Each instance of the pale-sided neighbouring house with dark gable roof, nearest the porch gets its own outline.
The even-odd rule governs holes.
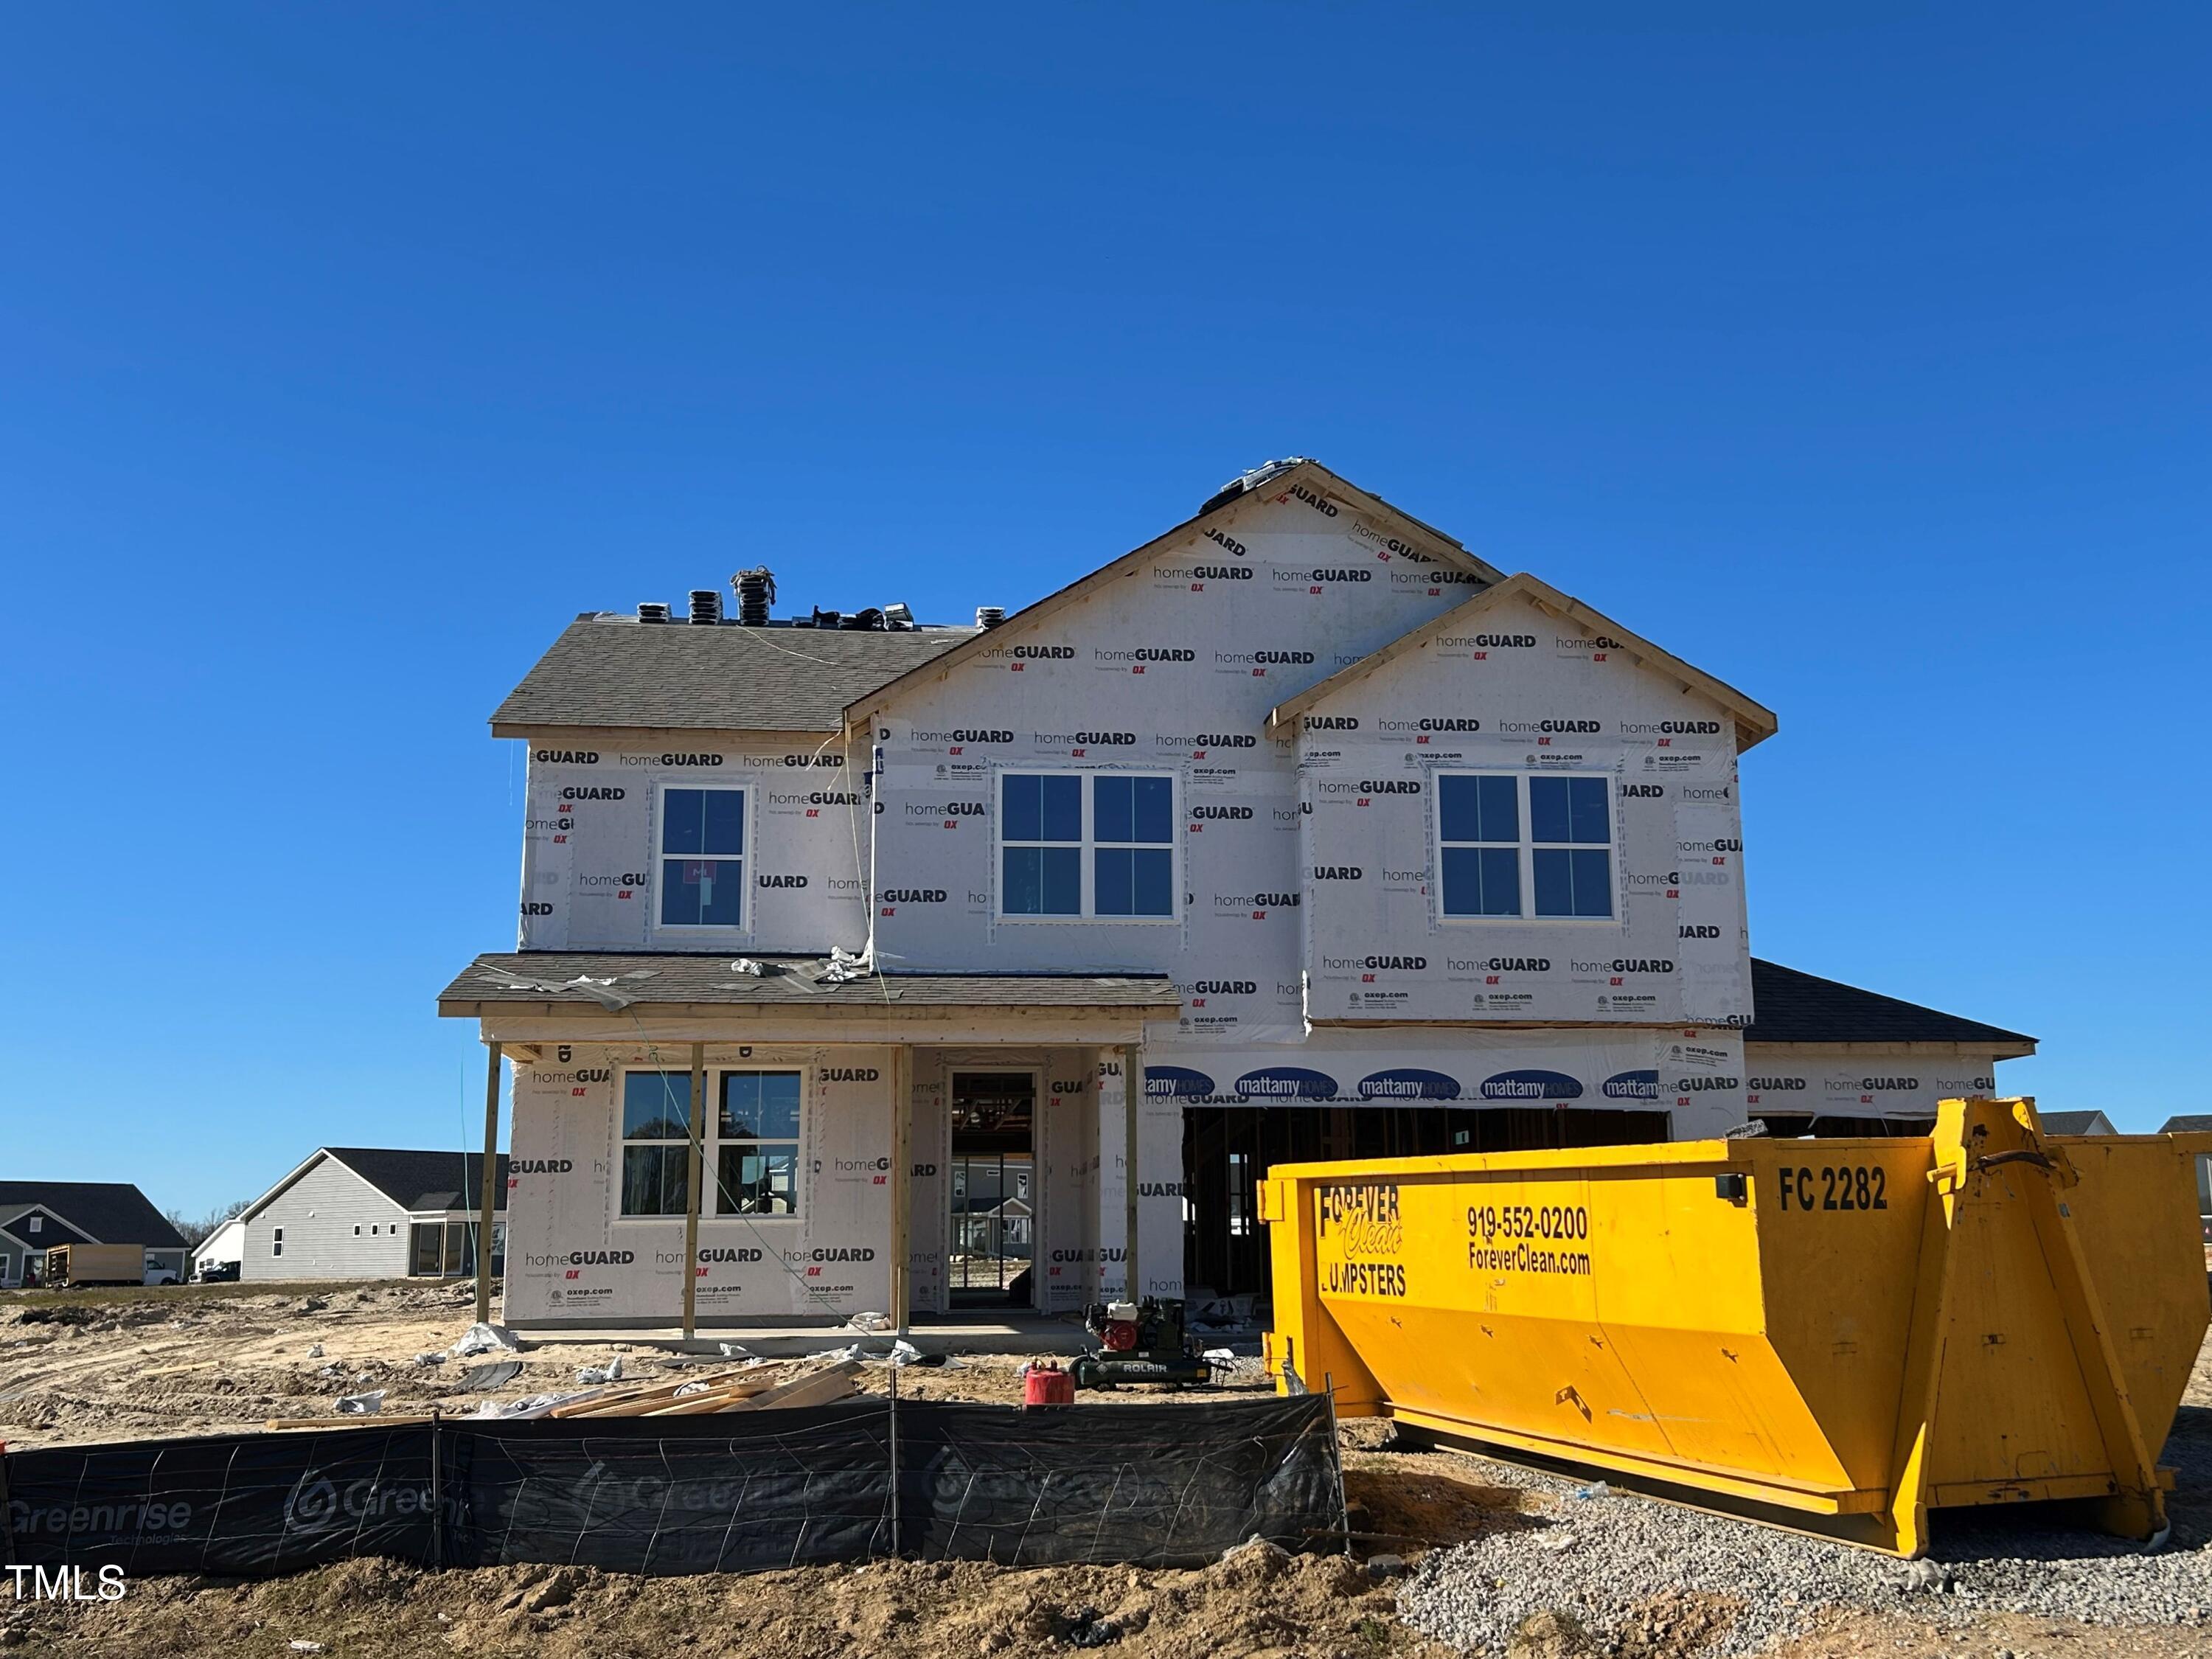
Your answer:
[[[226,1223],[226,1232],[239,1230],[239,1279],[440,1279],[476,1272],[482,1168],[480,1152],[321,1146]],[[500,1272],[507,1250],[504,1155],[493,1179],[500,1219],[491,1230],[491,1270]]]

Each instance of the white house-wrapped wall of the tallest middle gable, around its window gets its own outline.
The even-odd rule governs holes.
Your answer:
[[[874,726],[878,960],[1166,973],[1181,1040],[1298,1037],[1296,759],[1267,710],[1478,586],[1347,504],[1254,495],[900,688]],[[1172,916],[1009,916],[995,790],[1024,768],[1170,779]]]

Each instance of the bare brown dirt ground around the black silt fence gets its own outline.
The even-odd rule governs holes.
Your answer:
[[[385,1391],[385,1411],[577,1387],[577,1369],[619,1352],[624,1380],[677,1376],[641,1347],[557,1343],[526,1349],[522,1374],[478,1394],[460,1374],[484,1360],[416,1365],[445,1352],[471,1318],[467,1287],[434,1285],[195,1285],[148,1292],[0,1296],[0,1438],[11,1447],[135,1440],[259,1429],[272,1416],[316,1416],[341,1394]],[[741,1340],[734,1338],[734,1340]],[[823,1347],[883,1338],[825,1334]],[[310,1349],[321,1345],[321,1354]],[[945,1369],[905,1367],[902,1396],[1013,1402],[1020,1358],[964,1356]],[[688,1371],[695,1374],[695,1371]],[[867,1367],[885,1389],[889,1369]],[[1243,1387],[1259,1387],[1248,1383]],[[1166,1391],[1124,1389],[1117,1400]],[[2199,1356],[2190,1405],[2212,1411],[2212,1345]],[[2197,1413],[2190,1413],[2197,1420]],[[2212,1418],[2201,1420],[2212,1425]],[[139,1579],[113,1604],[15,1604],[0,1590],[0,1650],[71,1659],[241,1655],[330,1659],[507,1655],[529,1659],[666,1659],[677,1652],[772,1655],[1029,1655],[1073,1652],[1110,1632],[1133,1659],[1444,1659],[1398,1624],[1376,1553],[1475,1537],[1546,1500],[1500,1471],[1449,1451],[1387,1449],[1385,1425],[1347,1422],[1345,1495],[1360,1555],[1281,1557],[1245,1548],[1203,1571],[989,1568],[889,1562],[761,1575],[637,1579],[580,1568],[425,1573],[349,1562],[288,1579],[239,1584]],[[4,1584],[4,1579],[0,1579]],[[1725,1621],[1725,1606],[1659,1604],[1615,1648],[1619,1659],[1688,1659]],[[294,1644],[321,1644],[319,1648]],[[1542,1637],[1526,1659],[1582,1659]],[[1984,1619],[1936,1630],[1898,1617],[1834,1615],[1776,1648],[1785,1659],[2199,1659],[2203,1630],[2097,1628],[2046,1619]],[[1515,1655],[1515,1659],[1522,1659]]]

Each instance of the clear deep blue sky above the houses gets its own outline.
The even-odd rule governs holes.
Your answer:
[[[449,1146],[582,608],[1312,453],[1781,712],[1763,956],[2212,1108],[2203,7],[11,7],[9,1175]]]

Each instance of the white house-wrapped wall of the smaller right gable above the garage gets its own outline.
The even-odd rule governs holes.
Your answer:
[[[1506,785],[1513,834],[1537,834],[1522,779],[1601,785],[1601,823],[1575,825],[1604,849],[1601,916],[1447,909],[1440,787],[1475,776]],[[1310,706],[1298,785],[1310,1018],[1750,1020],[1732,717],[1615,641],[1484,608]]]

